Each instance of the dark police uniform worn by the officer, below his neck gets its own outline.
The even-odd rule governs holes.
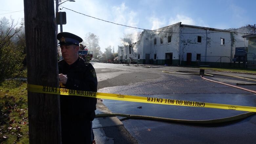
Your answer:
[[[65,89],[97,92],[97,77],[92,64],[80,57],[69,65],[58,62],[59,73],[67,75]],[[82,96],[60,96],[62,143],[90,144],[94,135],[92,120],[95,117],[96,98]]]

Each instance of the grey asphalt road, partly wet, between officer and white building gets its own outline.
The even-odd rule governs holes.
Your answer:
[[[208,103],[242,105],[256,107],[256,94],[222,84],[203,80],[200,76],[163,73],[168,71],[199,72],[197,68],[164,66],[126,66],[121,64],[93,63],[98,78],[98,92],[119,93],[139,96],[190,100]],[[177,72],[176,72],[177,73]],[[256,79],[256,75],[213,72],[244,76]],[[207,77],[212,80],[235,85],[235,83],[255,83],[246,79],[219,76]],[[241,86],[256,90],[256,86]],[[126,101],[103,100],[113,113],[158,116],[174,119],[208,120],[245,113],[210,108],[145,104]],[[137,107],[141,106],[141,109]],[[256,116],[221,124],[185,124],[150,120],[125,119],[124,124],[131,139],[138,143],[255,143]],[[127,133],[127,132],[125,132]],[[111,130],[106,135],[113,135]],[[129,135],[128,133],[126,135]],[[127,138],[127,137],[126,137]],[[129,138],[129,137],[128,137]],[[117,142],[116,142],[117,143]],[[129,142],[128,142],[129,143]],[[134,142],[135,143],[135,142]]]

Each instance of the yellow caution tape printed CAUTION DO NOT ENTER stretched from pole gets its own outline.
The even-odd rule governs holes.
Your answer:
[[[32,85],[32,84],[28,84],[28,91],[34,92],[34,93],[77,95],[77,96],[86,96],[86,97],[93,97],[93,98],[142,102],[142,103],[151,103],[151,104],[164,104],[164,105],[203,107],[203,108],[256,112],[256,107],[204,103],[204,102],[194,102],[194,101],[186,101],[186,100],[174,100],[174,99],[165,99],[165,98],[159,98],[159,97],[143,97],[143,96],[134,96],[134,95],[112,94],[112,93],[87,92],[87,91],[69,90],[69,89],[63,89],[63,88],[39,86],[39,85]]]

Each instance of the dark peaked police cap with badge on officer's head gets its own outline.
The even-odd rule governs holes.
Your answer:
[[[72,44],[79,46],[79,43],[83,41],[81,37],[69,32],[58,33],[57,39],[59,40],[59,44],[57,46],[72,45]]]

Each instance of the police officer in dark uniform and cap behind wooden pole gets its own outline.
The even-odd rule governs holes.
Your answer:
[[[77,56],[79,36],[60,32],[57,34],[63,60],[58,62],[61,87],[71,90],[97,92],[97,77],[93,66]],[[62,143],[91,144],[94,140],[92,121],[95,117],[96,98],[60,96]]]

